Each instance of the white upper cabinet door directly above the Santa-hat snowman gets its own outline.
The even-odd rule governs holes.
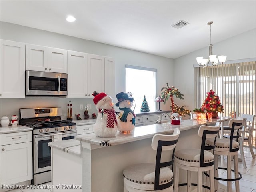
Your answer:
[[[105,92],[105,58],[103,56],[88,54],[87,92]]]

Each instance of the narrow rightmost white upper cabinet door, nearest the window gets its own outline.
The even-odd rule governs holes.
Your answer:
[[[114,98],[115,95],[115,60],[105,57],[105,93]]]

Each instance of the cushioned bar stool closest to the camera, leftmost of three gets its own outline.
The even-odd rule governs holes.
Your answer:
[[[174,129],[172,135],[155,134],[151,147],[156,150],[155,163],[141,163],[129,166],[123,171],[124,192],[159,191],[173,192],[173,166],[174,151],[180,130]],[[161,162],[162,151],[170,150],[171,160]],[[173,167],[172,167],[173,168]]]

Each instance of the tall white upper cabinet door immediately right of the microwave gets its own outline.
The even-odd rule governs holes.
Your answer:
[[[87,97],[87,55],[68,51],[68,97]]]

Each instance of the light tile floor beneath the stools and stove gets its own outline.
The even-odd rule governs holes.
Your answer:
[[[256,152],[255,149],[254,149],[254,152]],[[256,158],[255,159],[252,158],[252,156],[250,154],[250,150],[247,147],[244,147],[244,156],[245,156],[247,168],[245,169],[243,167],[242,162],[239,162],[239,164],[238,164],[239,172],[242,174],[242,179],[239,180],[240,192],[256,192]],[[219,160],[219,166],[220,166],[221,165],[220,158],[218,160]],[[224,158],[223,167],[226,166],[225,162],[226,162],[226,159]],[[233,169],[234,169],[234,166],[233,166]],[[220,170],[219,176],[222,178],[225,178],[226,170]],[[42,185],[51,185],[51,182],[45,183]],[[50,191],[52,191],[50,189],[45,189],[45,188],[42,189],[42,185],[39,185],[37,187],[31,186],[30,188],[27,188],[27,189],[14,189],[14,190],[10,190],[8,192],[50,192]],[[41,187],[41,189],[40,189],[40,187]],[[183,189],[184,189],[183,187],[180,187],[179,191],[185,192]],[[206,190],[206,191],[208,191],[208,190]],[[72,192],[72,191],[70,191],[70,192]],[[224,182],[224,181],[219,182],[218,192],[227,192],[226,182]],[[232,192],[236,192],[235,182],[232,182]]]

